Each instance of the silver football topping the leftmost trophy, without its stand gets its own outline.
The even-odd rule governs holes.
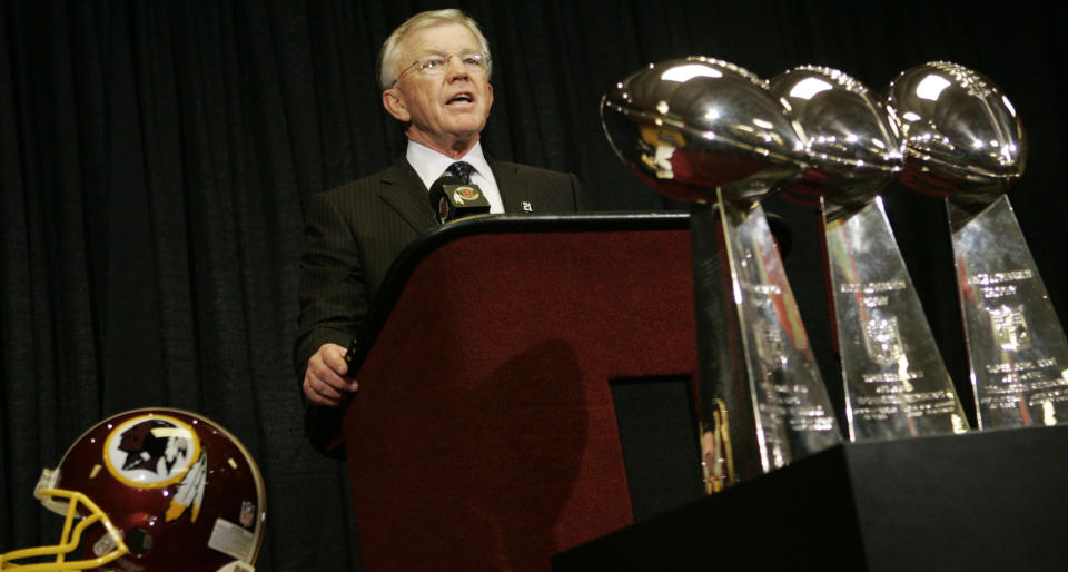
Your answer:
[[[749,71],[690,57],[650,65],[601,101],[609,141],[653,189],[676,200],[759,200],[805,167],[804,140]]]

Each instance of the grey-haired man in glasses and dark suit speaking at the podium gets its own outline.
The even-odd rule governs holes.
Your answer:
[[[316,195],[300,258],[300,329],[294,357],[310,403],[337,406],[357,383],[346,345],[397,254],[435,225],[429,186],[446,172],[469,177],[491,213],[577,209],[581,187],[564,175],[487,158],[479,134],[493,105],[485,37],[459,10],[412,17],[378,58],[382,103],[408,146],[388,169]]]

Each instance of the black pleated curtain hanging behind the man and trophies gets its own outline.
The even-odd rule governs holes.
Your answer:
[[[643,187],[601,131],[601,95],[686,55],[771,77],[815,63],[881,90],[933,59],[1000,85],[1030,137],[1010,194],[1054,305],[1068,147],[1062,6],[894,1],[545,1],[459,8],[494,49],[484,134],[503,159],[573,171],[600,210],[680,208]],[[100,418],[200,412],[258,460],[260,570],[358,568],[344,466],[306,446],[290,367],[304,205],[390,162],[402,136],[373,66],[422,1],[3,1],[0,8],[0,551],[51,543],[42,467]],[[888,214],[969,402],[943,206],[900,185]],[[831,352],[814,214],[788,259],[824,377]],[[640,269],[655,279],[654,269]],[[832,385],[833,387],[833,385]],[[832,391],[838,394],[839,391]],[[417,456],[413,452],[413,456]],[[433,475],[428,475],[433,476]]]

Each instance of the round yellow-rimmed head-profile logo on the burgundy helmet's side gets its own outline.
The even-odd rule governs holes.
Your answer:
[[[184,481],[200,461],[200,440],[182,421],[146,414],[116,426],[105,442],[103,456],[108,471],[119,481],[159,489]]]

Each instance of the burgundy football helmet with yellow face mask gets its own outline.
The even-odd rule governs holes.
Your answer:
[[[60,541],[0,554],[2,570],[249,572],[267,514],[248,450],[171,408],[98,423],[41,473],[33,496],[66,517]]]

